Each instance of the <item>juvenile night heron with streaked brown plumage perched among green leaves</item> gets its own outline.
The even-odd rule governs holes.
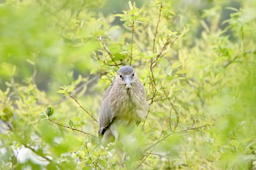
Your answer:
[[[122,66],[108,87],[99,109],[99,137],[102,146],[117,141],[120,131],[140,123],[146,117],[146,91],[132,66]],[[129,133],[126,133],[129,134]]]

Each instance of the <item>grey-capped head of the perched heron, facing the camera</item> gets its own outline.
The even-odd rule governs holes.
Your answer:
[[[132,88],[132,80],[135,78],[135,69],[132,66],[122,66],[117,71],[117,79],[124,82],[125,88]]]

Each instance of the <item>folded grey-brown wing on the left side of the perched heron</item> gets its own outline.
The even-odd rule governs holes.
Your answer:
[[[108,87],[99,109],[99,135],[104,134],[110,123],[113,121],[113,116],[111,114],[110,92],[113,88],[114,81],[115,80],[113,80]]]

